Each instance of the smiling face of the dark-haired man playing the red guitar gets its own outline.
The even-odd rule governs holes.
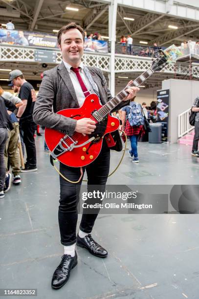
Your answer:
[[[84,41],[81,32],[76,29],[70,29],[61,35],[61,44],[58,44],[63,60],[68,64],[80,64],[84,54]]]

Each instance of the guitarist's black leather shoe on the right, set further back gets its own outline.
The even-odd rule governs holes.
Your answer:
[[[93,256],[106,257],[108,255],[106,249],[95,242],[90,234],[86,235],[84,238],[80,238],[79,235],[77,235],[76,244],[77,246],[88,249],[89,253]]]

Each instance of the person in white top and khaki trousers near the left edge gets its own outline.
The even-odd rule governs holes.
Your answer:
[[[4,91],[0,87],[0,95],[12,102],[17,108],[22,106],[22,100],[19,97],[14,96],[12,93]],[[11,113],[9,115],[10,121],[13,126],[13,130],[8,132],[8,139],[6,141],[5,145],[5,151],[4,151],[4,160],[5,160],[5,169],[6,173],[8,172],[8,158],[9,163],[12,167],[13,172],[13,184],[18,185],[21,183],[21,177],[20,177],[20,171],[21,171],[21,160],[20,160],[20,153],[18,149],[18,134],[19,134],[19,121],[16,118],[16,115],[14,113]],[[10,184],[7,184],[5,182],[4,192],[7,192],[9,190]]]

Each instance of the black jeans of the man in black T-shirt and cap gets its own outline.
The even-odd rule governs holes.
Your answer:
[[[23,121],[20,122],[20,126],[23,131],[23,142],[25,144],[27,159],[26,164],[31,167],[36,167],[36,147],[35,147],[35,130],[37,129],[37,125],[33,121]]]

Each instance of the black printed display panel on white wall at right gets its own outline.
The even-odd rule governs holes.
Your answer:
[[[168,141],[169,89],[157,90],[157,122],[162,123],[162,141]]]

